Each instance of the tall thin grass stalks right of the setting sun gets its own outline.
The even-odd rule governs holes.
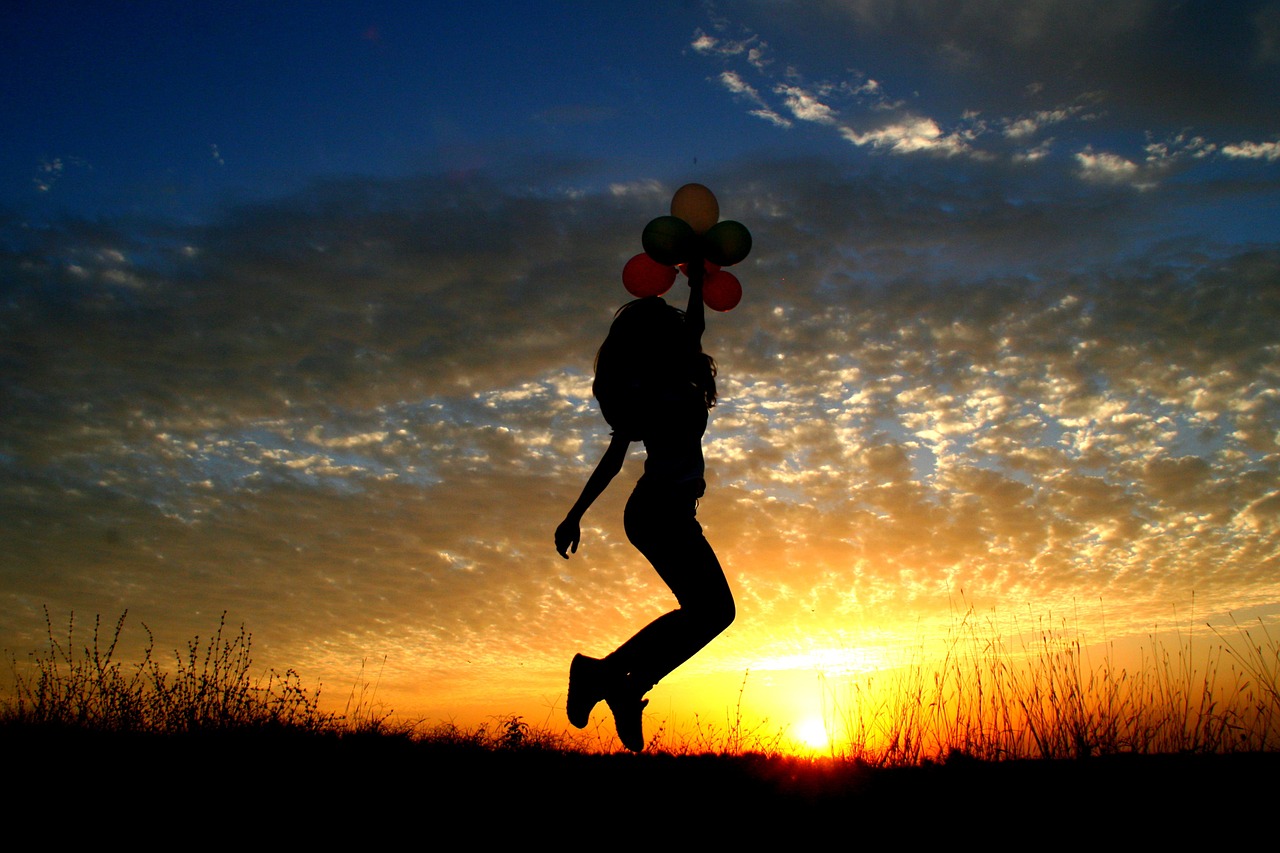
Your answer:
[[[963,753],[1083,758],[1280,748],[1280,644],[1261,621],[1215,642],[1152,634],[1133,669],[1105,644],[1094,662],[1078,631],[1041,622],[1005,638],[973,610],[936,657],[828,686],[833,753],[876,766]]]

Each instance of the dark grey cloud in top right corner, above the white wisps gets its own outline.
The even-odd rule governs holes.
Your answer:
[[[1044,0],[1016,9],[996,0],[833,1],[818,4],[823,20],[806,26],[823,33],[809,40],[814,54],[845,40],[854,55],[886,67],[914,63],[952,76],[963,83],[952,91],[973,99],[957,106],[969,109],[1010,114],[1021,90],[1036,85],[1061,102],[1101,92],[1120,122],[1274,128],[1280,111],[1262,101],[1280,67],[1262,58],[1274,44],[1275,9],[1263,1],[1229,9],[1148,0]],[[792,36],[783,17],[767,19]]]

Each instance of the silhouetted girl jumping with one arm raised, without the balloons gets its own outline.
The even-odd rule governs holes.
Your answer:
[[[660,297],[628,302],[595,356],[591,391],[613,428],[608,450],[577,503],[556,528],[556,551],[577,551],[581,519],[622,469],[631,442],[644,442],[644,475],[623,515],[627,539],[680,602],[612,654],[576,654],[570,665],[568,720],[586,726],[604,699],[627,749],[644,749],[644,694],[733,621],[733,597],[695,510],[703,479],[701,438],[716,405],[716,361],[701,348],[701,275],[690,277],[689,310]]]

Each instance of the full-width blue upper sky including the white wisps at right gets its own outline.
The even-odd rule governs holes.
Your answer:
[[[1085,174],[1130,182],[1207,149],[1208,179],[1274,161],[1274,18],[1258,3],[19,4],[4,197],[207,216],[334,175],[602,182],[850,146],[1087,152]]]

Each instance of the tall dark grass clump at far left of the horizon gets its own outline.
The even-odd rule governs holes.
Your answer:
[[[4,708],[9,724],[64,726],[91,731],[178,734],[219,730],[328,731],[343,717],[320,711],[320,692],[302,685],[293,670],[252,674],[252,638],[227,629],[223,613],[207,642],[191,639],[172,666],[155,654],[147,633],[142,660],[116,660],[124,629],[95,617],[92,638],[76,637],[74,615],[65,639],[55,635],[45,610],[47,646],[26,661],[12,660],[14,690]],[[361,717],[362,720],[364,717]]]

